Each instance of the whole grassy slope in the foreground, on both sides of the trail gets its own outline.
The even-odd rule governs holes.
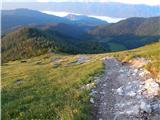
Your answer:
[[[103,70],[100,61],[105,56],[114,56],[128,61],[140,56],[151,60],[146,67],[155,75],[160,71],[160,42],[130,51],[110,54],[88,55],[93,61],[65,66],[77,56],[46,55],[28,59],[27,63],[9,62],[2,66],[2,118],[17,119],[90,119],[89,91],[82,91],[84,84],[91,82],[95,73]],[[62,58],[59,67],[53,68],[52,58]],[[36,64],[39,61],[41,65]],[[57,64],[55,65],[57,66]],[[16,80],[22,83],[17,84]]]

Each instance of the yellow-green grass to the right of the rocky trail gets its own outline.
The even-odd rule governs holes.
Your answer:
[[[153,75],[160,77],[160,41],[134,50],[111,53],[120,60],[128,61],[135,57],[144,57],[151,62],[145,67]]]

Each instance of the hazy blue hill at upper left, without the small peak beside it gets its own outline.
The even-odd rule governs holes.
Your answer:
[[[18,26],[52,22],[69,23],[70,21],[65,18],[29,9],[2,10],[2,33],[10,31]]]

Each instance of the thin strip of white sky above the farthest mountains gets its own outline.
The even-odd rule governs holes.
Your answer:
[[[120,2],[128,4],[160,5],[160,0],[2,0],[3,2]]]

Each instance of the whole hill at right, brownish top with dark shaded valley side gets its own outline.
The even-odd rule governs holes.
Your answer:
[[[160,38],[160,17],[128,18],[117,23],[97,26],[88,33],[97,41],[105,44],[116,44],[126,49],[133,49]]]

